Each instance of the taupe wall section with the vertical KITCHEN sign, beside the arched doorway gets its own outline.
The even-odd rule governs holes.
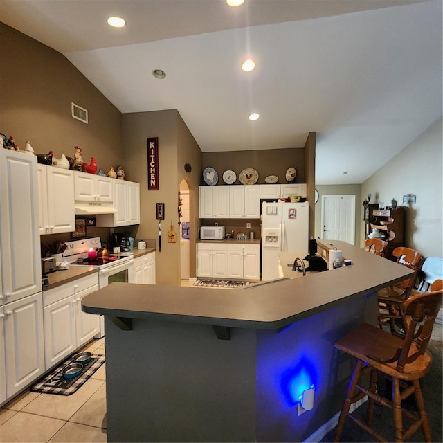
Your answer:
[[[149,137],[159,138],[159,190],[147,189],[146,139]],[[158,238],[156,204],[164,203],[165,219],[161,221],[160,252],[157,245],[156,278],[158,284],[179,284],[180,242],[168,243],[168,230],[172,221],[179,239],[179,185],[181,179],[186,179],[190,190],[198,189],[201,152],[176,109],[123,114],[123,139],[125,164],[132,170],[134,181],[140,183],[141,221],[136,239]],[[184,163],[192,165],[190,174],[184,170]],[[195,232],[192,235],[195,246]]]

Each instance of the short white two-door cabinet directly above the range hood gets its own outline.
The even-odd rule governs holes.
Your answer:
[[[112,201],[112,183],[115,179],[87,172],[74,172],[76,201]]]

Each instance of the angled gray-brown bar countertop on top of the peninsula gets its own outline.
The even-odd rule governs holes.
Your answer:
[[[352,266],[230,290],[113,283],[85,296],[82,309],[123,318],[275,329],[412,275],[404,266],[345,242],[323,244],[334,246]]]

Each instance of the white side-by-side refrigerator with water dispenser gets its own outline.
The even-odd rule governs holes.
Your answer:
[[[280,251],[308,253],[309,204],[262,204],[262,281],[279,278]]]

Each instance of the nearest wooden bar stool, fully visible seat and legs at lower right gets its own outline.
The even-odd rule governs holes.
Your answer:
[[[424,409],[424,399],[419,380],[431,367],[432,356],[426,350],[435,318],[442,307],[443,281],[437,280],[431,292],[417,293],[404,302],[404,314],[408,318],[406,336],[400,338],[378,327],[361,324],[334,343],[336,349],[354,356],[357,361],[352,374],[343,409],[336,427],[334,442],[339,442],[347,417],[381,442],[403,442],[420,427],[426,442],[431,442],[431,428]],[[422,323],[423,322],[423,323]],[[361,383],[361,376],[369,372],[368,387]],[[377,392],[377,377],[381,374],[392,381],[392,401]],[[357,393],[356,393],[357,390]],[[401,401],[414,394],[418,417],[402,409]],[[366,419],[350,414],[352,403],[368,395]],[[374,404],[387,406],[394,415],[395,440],[383,437],[372,427]],[[404,431],[403,416],[413,420]]]

